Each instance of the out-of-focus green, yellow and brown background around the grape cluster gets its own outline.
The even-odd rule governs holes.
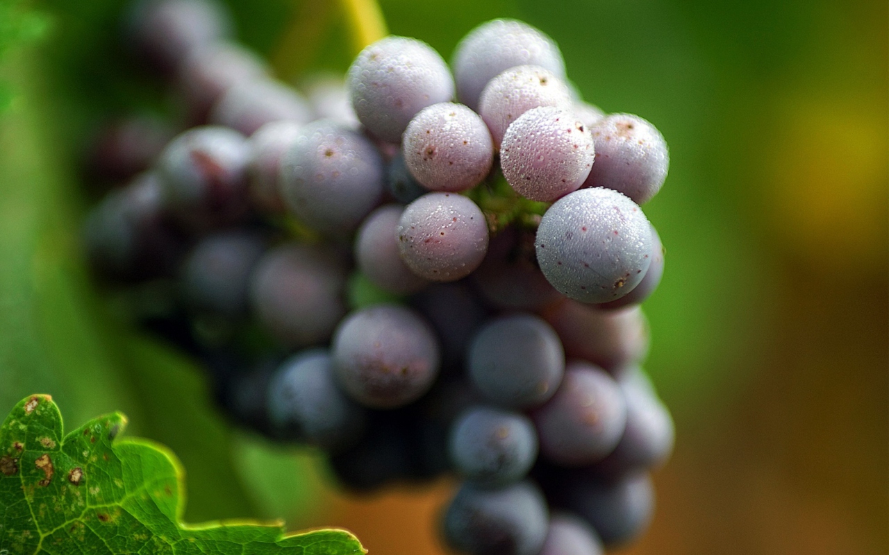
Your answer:
[[[354,54],[337,10],[306,24],[317,0],[228,4],[270,58],[290,29],[293,75],[342,72]],[[84,138],[161,90],[121,48],[123,5],[0,4],[0,413],[33,392],[52,393],[72,427],[124,410],[131,434],[182,459],[189,521],[283,516],[348,527],[372,554],[443,552],[436,516],[452,484],[336,492],[315,454],[231,430],[194,364],[122,325],[92,285],[78,242]],[[525,20],[557,41],[585,99],[645,117],[669,143],[669,178],[645,207],[668,251],[645,303],[645,368],[677,448],[656,475],[651,530],[621,552],[889,551],[887,4],[380,6],[392,33],[445,59],[484,20]]]

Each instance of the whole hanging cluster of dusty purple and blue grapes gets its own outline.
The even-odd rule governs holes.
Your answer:
[[[451,67],[387,36],[301,93],[208,0],[128,21],[180,127],[136,115],[96,143],[93,175],[124,184],[88,254],[204,358],[228,415],[324,450],[354,490],[460,476],[442,533],[470,555],[639,535],[674,433],[639,367],[661,134],[583,102],[516,20],[471,30]]]

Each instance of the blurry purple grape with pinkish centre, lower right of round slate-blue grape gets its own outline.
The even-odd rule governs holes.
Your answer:
[[[571,362],[562,385],[533,415],[541,452],[557,464],[578,466],[605,458],[621,440],[627,405],[605,371]]]

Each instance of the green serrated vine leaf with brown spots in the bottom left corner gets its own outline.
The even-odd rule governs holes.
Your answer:
[[[125,427],[118,412],[63,436],[49,395],[21,400],[0,427],[0,552],[364,554],[344,530],[285,535],[281,524],[183,525],[179,462],[154,442],[116,440]]]

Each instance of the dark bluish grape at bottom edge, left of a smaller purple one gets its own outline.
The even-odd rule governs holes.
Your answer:
[[[531,482],[502,489],[468,483],[445,513],[445,542],[469,555],[537,555],[548,525],[547,503]]]

